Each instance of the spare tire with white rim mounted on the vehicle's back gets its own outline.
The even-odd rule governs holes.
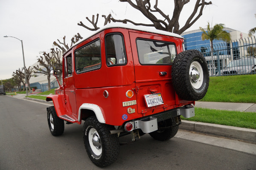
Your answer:
[[[180,99],[194,101],[205,96],[209,86],[209,71],[200,51],[187,50],[175,57],[172,85]]]

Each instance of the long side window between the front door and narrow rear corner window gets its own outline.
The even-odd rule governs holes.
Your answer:
[[[76,73],[101,68],[100,40],[90,42],[75,51]]]

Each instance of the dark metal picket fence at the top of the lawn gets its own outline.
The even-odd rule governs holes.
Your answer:
[[[210,76],[256,73],[256,37],[218,43],[197,49],[204,54]]]

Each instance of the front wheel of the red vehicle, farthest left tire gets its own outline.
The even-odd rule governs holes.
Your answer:
[[[51,124],[52,118],[52,124]],[[50,106],[47,111],[47,121],[49,125],[50,132],[53,136],[59,136],[64,132],[64,120],[57,116],[54,106]]]

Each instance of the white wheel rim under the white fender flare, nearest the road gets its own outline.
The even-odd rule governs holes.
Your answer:
[[[91,128],[89,130],[88,140],[93,153],[99,156],[102,153],[102,144],[96,129]]]

